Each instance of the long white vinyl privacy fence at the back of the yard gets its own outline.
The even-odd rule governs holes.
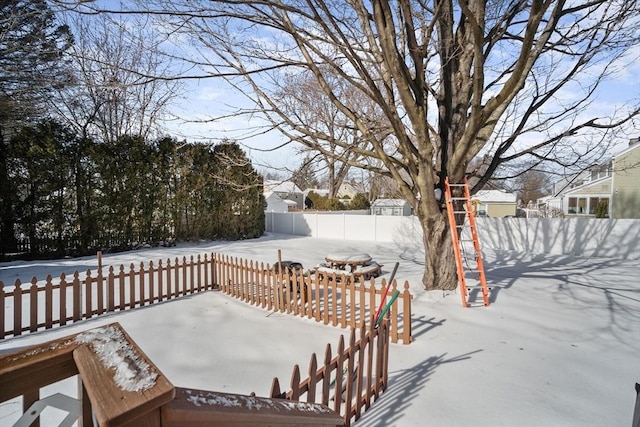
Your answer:
[[[640,260],[637,219],[477,218],[477,223],[487,249]],[[422,248],[415,216],[267,212],[266,231]]]

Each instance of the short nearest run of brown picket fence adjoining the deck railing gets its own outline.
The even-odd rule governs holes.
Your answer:
[[[280,381],[274,378],[272,398],[285,398],[329,406],[344,419],[345,426],[357,421],[374,400],[387,388],[389,378],[389,323],[379,327],[374,322],[359,329],[351,329],[349,347],[344,347],[340,336],[336,355],[327,344],[324,363],[318,368],[315,353],[309,361],[309,376],[300,379],[300,367],[295,365],[291,374],[291,389],[280,392]]]

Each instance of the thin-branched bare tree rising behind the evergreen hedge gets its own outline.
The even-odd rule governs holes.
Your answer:
[[[84,137],[100,141],[161,133],[168,106],[183,84],[163,79],[172,62],[160,55],[163,38],[145,22],[148,19],[72,13],[64,17],[74,33],[68,52],[74,84],[52,98],[52,108]],[[158,78],[142,77],[149,73]]]

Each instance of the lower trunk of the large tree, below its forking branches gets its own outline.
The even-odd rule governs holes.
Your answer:
[[[424,288],[454,290],[458,286],[458,276],[446,212],[420,216],[420,225],[425,250]]]

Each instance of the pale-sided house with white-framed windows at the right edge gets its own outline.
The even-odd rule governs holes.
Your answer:
[[[554,196],[539,205],[565,217],[640,218],[640,139],[610,161],[554,186]]]

